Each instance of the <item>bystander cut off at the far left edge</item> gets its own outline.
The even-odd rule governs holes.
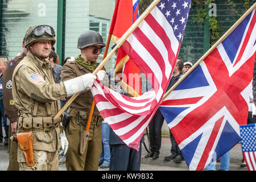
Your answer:
[[[3,143],[5,145],[8,145],[8,143],[9,143],[9,139],[8,139],[9,125],[7,125],[7,118],[5,116],[5,109],[3,107],[3,84],[2,84],[2,81],[3,81],[3,72],[5,71],[7,64],[8,64],[8,60],[6,59],[6,57],[1,57],[0,58],[0,72],[1,72],[1,75],[0,75],[0,112],[1,112],[1,115],[0,115],[0,119],[1,119],[0,142],[1,143],[3,142],[3,133],[2,133],[2,126],[3,126],[5,128],[5,137],[4,137],[5,141]]]

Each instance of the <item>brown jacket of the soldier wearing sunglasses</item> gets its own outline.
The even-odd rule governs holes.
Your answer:
[[[92,73],[82,65],[78,64],[76,61],[69,61],[63,65],[61,70],[61,81],[66,81],[71,78],[82,76],[86,73]],[[85,90],[81,92],[79,96],[72,102],[70,107],[76,111],[90,112],[90,107],[92,106],[93,96],[90,90]],[[93,115],[98,115],[99,111],[97,107],[94,107]]]

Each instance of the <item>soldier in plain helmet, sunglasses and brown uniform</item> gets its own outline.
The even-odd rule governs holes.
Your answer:
[[[75,61],[70,61],[63,65],[61,81],[69,80],[85,73],[92,73],[98,66],[96,61],[103,47],[105,47],[105,44],[98,32],[85,31],[82,33],[77,42],[77,48],[81,50],[81,55],[77,56]],[[97,76],[101,81],[108,80],[105,71],[98,72]],[[91,92],[82,92],[68,108],[68,114],[72,116],[65,128],[69,142],[66,159],[68,170],[98,170],[98,160],[102,146],[100,126],[103,118],[96,107],[93,111],[89,133],[85,131],[92,101]]]

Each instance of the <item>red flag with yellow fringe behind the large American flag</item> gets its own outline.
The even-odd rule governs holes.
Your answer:
[[[130,28],[138,15],[138,0],[117,0],[110,26],[109,34],[112,41],[119,38]],[[129,56],[120,47],[117,53],[114,78],[121,81],[123,90],[133,97],[142,94],[141,70],[133,63]]]

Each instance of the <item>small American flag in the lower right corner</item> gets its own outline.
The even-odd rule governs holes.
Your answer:
[[[256,124],[241,125],[240,136],[243,159],[249,171],[256,171]]]

